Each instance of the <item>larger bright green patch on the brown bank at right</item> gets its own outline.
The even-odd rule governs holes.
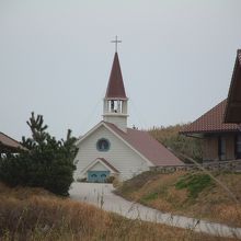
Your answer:
[[[176,183],[175,188],[188,191],[188,197],[195,199],[205,188],[214,185],[214,181],[207,174],[194,173],[182,176]]]

